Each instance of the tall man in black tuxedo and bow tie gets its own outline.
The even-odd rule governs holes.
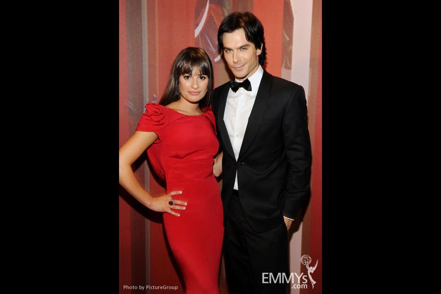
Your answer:
[[[218,43],[235,76],[212,96],[223,151],[228,291],[286,293],[289,283],[274,280],[279,273],[290,276],[288,230],[294,218],[302,219],[310,197],[305,92],[262,68],[264,29],[252,13],[229,14]]]

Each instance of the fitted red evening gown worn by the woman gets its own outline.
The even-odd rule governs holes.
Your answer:
[[[189,294],[217,294],[223,238],[223,213],[213,162],[219,142],[211,108],[188,116],[157,103],[147,103],[138,131],[155,132],[147,149],[154,171],[173,199],[187,201],[180,217],[164,213],[164,227]]]

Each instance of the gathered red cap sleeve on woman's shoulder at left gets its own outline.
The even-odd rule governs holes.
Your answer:
[[[146,111],[141,116],[136,130],[155,132],[158,136],[158,140],[156,140],[155,143],[159,143],[162,137],[162,131],[167,123],[168,116],[164,112],[163,106],[157,103],[147,103]]]

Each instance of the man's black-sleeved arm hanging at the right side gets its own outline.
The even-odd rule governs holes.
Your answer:
[[[282,213],[288,227],[292,221],[286,218],[303,218],[310,197],[311,141],[305,91],[301,86],[294,88],[288,100],[282,131],[289,164]]]

